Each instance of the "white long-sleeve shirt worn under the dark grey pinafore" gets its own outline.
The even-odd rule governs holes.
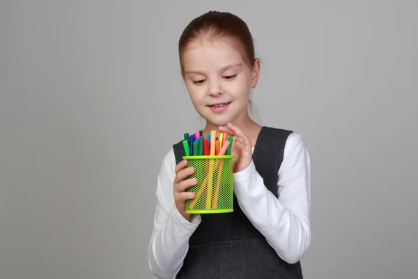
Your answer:
[[[253,149],[254,151],[254,149]],[[171,149],[157,178],[157,206],[148,246],[148,264],[158,278],[175,278],[189,249],[189,237],[201,223],[200,215],[189,221],[178,212],[173,197],[176,159]],[[263,183],[254,162],[233,174],[238,204],[277,255],[293,264],[311,243],[310,158],[300,135],[289,135],[279,168],[276,198]]]

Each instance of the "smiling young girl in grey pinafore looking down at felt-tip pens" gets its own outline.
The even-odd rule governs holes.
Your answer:
[[[196,111],[211,130],[235,137],[234,212],[190,215],[197,183],[173,145],[157,179],[148,249],[158,278],[302,278],[311,243],[310,161],[300,135],[260,126],[248,114],[260,61],[247,24],[231,13],[192,20],[179,41],[180,68]],[[277,94],[277,92],[273,92]]]

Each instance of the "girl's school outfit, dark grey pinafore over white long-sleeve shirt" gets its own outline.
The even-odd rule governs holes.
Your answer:
[[[310,158],[300,135],[263,126],[253,161],[233,174],[232,213],[180,215],[173,198],[182,142],[165,156],[148,250],[159,278],[302,279],[311,243]]]

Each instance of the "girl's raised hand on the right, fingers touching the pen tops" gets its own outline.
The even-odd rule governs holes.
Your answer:
[[[235,137],[235,144],[233,146],[233,172],[240,172],[251,164],[252,161],[252,144],[251,140],[245,135],[242,130],[228,123],[226,126],[219,126],[219,131],[228,133]],[[231,142],[232,144],[232,142]]]

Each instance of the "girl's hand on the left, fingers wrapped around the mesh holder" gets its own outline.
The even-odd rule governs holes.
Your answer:
[[[190,221],[191,214],[186,213],[186,200],[193,199],[195,193],[185,192],[191,186],[196,185],[197,179],[187,179],[187,176],[194,173],[194,167],[187,167],[187,160],[183,160],[176,165],[176,177],[173,182],[174,202],[178,212],[187,220]]]

